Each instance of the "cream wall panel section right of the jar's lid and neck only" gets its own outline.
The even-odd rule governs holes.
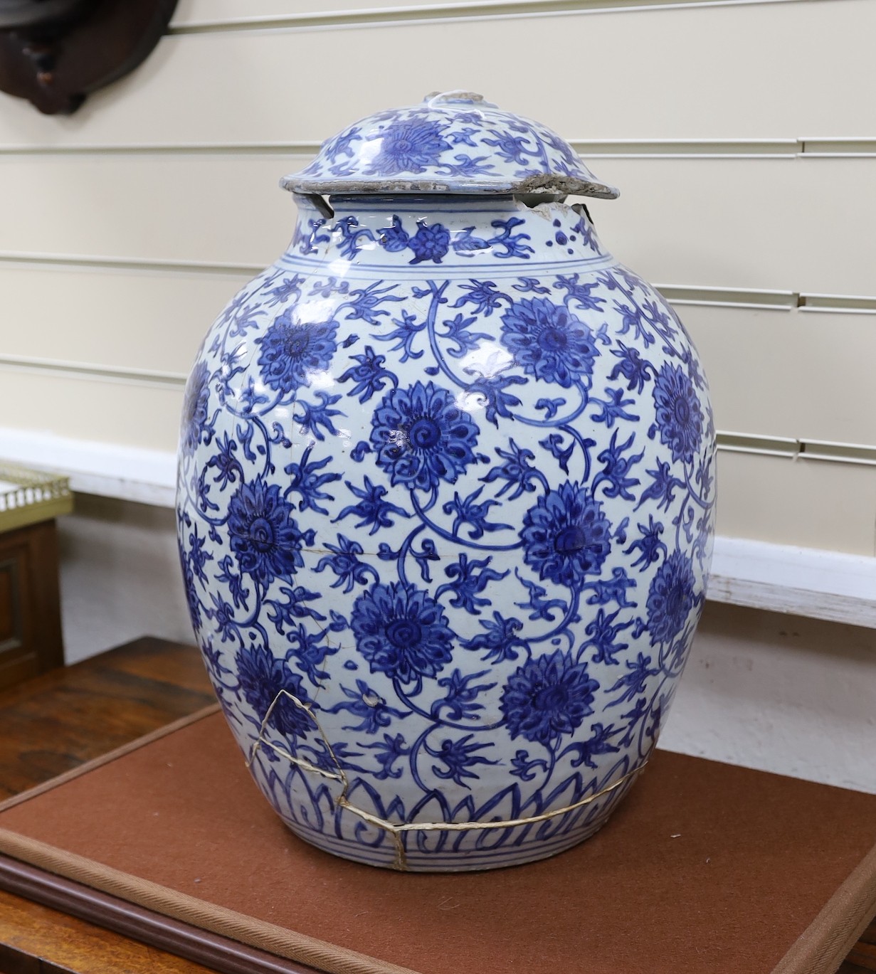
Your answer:
[[[591,165],[621,190],[590,210],[605,245],[649,280],[876,295],[874,159]]]

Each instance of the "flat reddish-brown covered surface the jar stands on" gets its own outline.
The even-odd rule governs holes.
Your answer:
[[[662,751],[553,859],[456,876],[346,862],[286,830],[218,714],[0,811],[0,829],[422,974],[802,972],[822,911],[854,940],[843,903],[876,898],[876,796]]]

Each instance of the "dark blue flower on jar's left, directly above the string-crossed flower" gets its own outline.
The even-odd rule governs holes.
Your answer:
[[[314,539],[313,531],[298,530],[280,486],[261,476],[242,484],[229,502],[228,534],[241,571],[263,585],[302,568],[301,548]]]

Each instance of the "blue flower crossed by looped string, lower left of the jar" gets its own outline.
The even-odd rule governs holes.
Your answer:
[[[264,721],[273,703],[268,726],[275,731],[286,737],[304,737],[314,729],[308,712],[286,696],[290,693],[301,703],[310,702],[301,677],[292,673],[283,659],[272,656],[261,646],[238,650],[236,658],[241,692],[259,722]],[[282,691],[286,693],[279,695]]]

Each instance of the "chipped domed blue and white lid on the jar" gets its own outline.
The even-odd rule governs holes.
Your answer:
[[[556,132],[473,92],[428,94],[420,105],[369,115],[327,139],[310,166],[280,185],[322,195],[618,196]]]

